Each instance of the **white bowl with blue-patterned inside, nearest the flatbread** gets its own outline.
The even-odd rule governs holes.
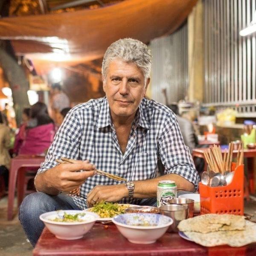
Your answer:
[[[134,244],[152,244],[164,233],[173,220],[154,213],[125,213],[113,218],[120,233]],[[138,226],[147,222],[149,226]],[[155,226],[153,226],[155,225]]]

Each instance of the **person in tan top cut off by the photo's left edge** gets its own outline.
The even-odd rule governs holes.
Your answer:
[[[8,187],[8,177],[11,157],[9,154],[10,129],[6,125],[3,114],[0,112],[0,176],[4,178],[5,187]]]

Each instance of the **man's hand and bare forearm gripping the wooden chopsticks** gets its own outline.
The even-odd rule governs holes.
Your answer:
[[[83,170],[84,172],[78,172]],[[96,174],[95,166],[88,160],[76,160],[76,163],[61,163],[37,176],[35,186],[38,191],[57,194],[70,192]]]

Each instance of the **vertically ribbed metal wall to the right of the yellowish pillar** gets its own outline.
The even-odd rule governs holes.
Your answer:
[[[205,0],[205,106],[256,116],[256,35],[241,37],[256,0]]]

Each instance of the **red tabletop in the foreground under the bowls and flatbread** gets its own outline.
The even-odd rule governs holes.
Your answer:
[[[78,240],[60,240],[44,229],[33,250],[33,256],[253,256],[256,244],[244,247],[204,247],[181,238],[177,233],[165,233],[154,244],[132,244],[115,225],[105,229],[103,224],[93,228]]]

